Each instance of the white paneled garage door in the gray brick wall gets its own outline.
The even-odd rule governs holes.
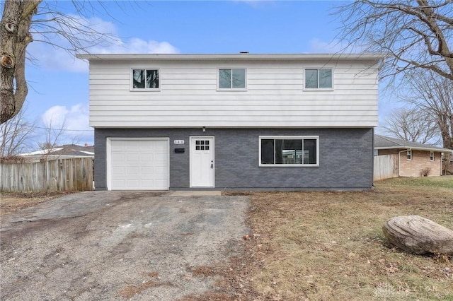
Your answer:
[[[109,189],[168,190],[168,139],[110,138],[109,142]]]

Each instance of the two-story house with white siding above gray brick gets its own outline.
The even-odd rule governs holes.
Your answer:
[[[370,189],[381,54],[81,54],[96,190]]]

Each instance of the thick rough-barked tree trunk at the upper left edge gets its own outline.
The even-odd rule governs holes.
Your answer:
[[[33,38],[30,25],[42,0],[6,0],[0,22],[0,124],[16,116],[28,93],[25,49]]]

